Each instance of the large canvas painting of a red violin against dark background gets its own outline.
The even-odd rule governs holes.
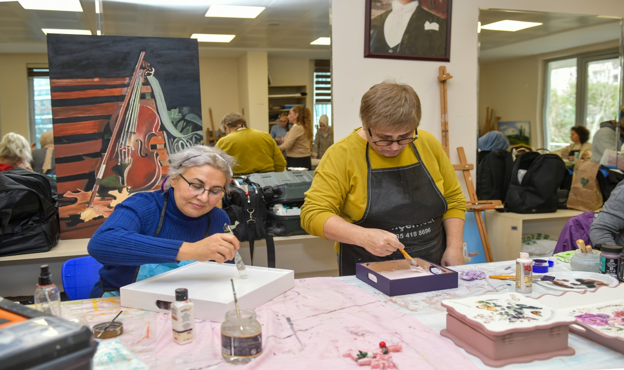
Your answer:
[[[88,46],[87,46],[88,45]],[[61,239],[89,238],[203,140],[197,40],[47,37]]]

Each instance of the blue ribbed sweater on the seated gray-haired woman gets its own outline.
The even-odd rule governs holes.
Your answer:
[[[88,251],[104,267],[100,282],[91,290],[91,298],[104,292],[119,291],[135,280],[140,265],[147,263],[176,263],[175,257],[183,242],[203,239],[208,217],[189,217],[183,214],[173,199],[173,188],[168,189],[167,210],[158,237],[154,237],[160,219],[165,193],[139,192],[117,204],[115,210],[89,240]],[[223,224],[230,219],[220,208],[208,212],[208,235],[223,232]]]

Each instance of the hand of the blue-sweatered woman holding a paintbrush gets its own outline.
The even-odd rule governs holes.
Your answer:
[[[201,262],[214,260],[218,263],[232,260],[240,242],[232,234],[213,234],[194,243],[183,242],[176,260],[198,260]]]

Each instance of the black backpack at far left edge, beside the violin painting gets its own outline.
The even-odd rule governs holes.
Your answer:
[[[0,257],[47,252],[59,241],[53,183],[23,168],[0,172]]]

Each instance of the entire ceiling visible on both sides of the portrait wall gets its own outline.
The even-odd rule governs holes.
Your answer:
[[[50,0],[54,1],[54,0]],[[334,0],[348,1],[348,0]],[[353,0],[349,0],[353,1]],[[456,0],[459,1],[459,0]],[[464,0],[465,1],[465,0]],[[109,36],[190,37],[193,33],[235,34],[227,44],[200,42],[211,57],[238,57],[263,50],[270,57],[329,59],[331,46],[310,45],[330,36],[331,0],[103,0],[103,34]],[[174,6],[167,6],[174,2]],[[265,6],[255,19],[204,17],[210,4]],[[0,52],[46,52],[42,28],[99,28],[94,0],[80,0],[83,12],[26,10],[0,0]],[[461,17],[461,14],[453,14]],[[542,54],[620,37],[620,21],[578,14],[481,9],[480,21],[502,19],[543,22],[518,32],[482,30],[482,62]],[[339,20],[338,20],[339,21]]]

